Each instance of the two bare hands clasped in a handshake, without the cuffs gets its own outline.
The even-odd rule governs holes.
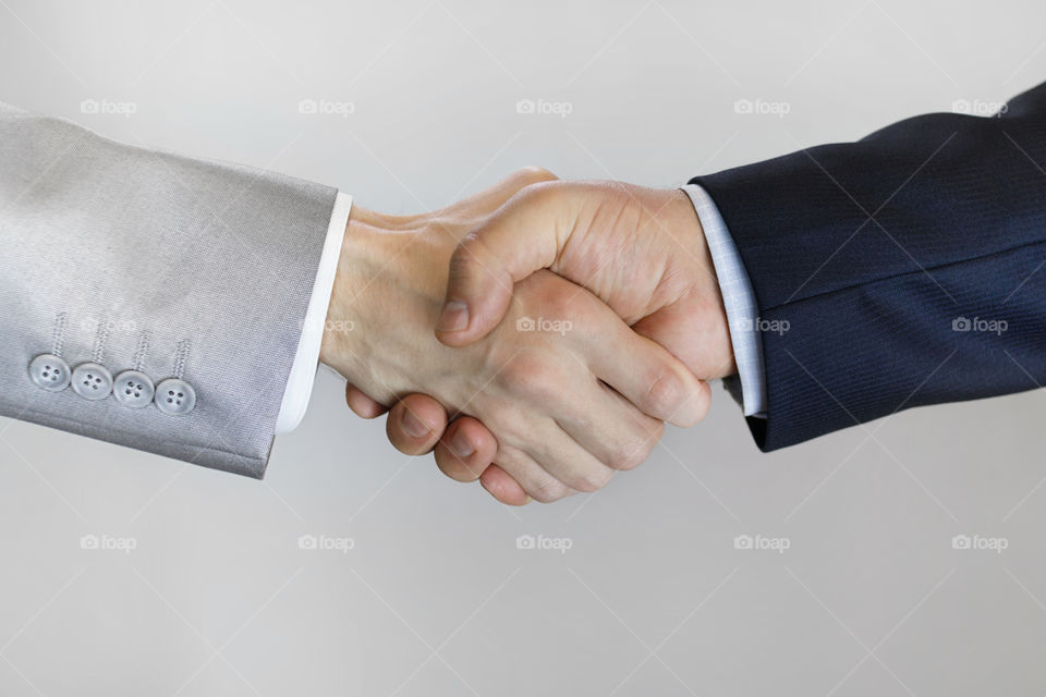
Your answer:
[[[604,487],[737,371],[686,193],[536,168],[430,213],[354,206],[320,359],[400,451],[512,505]]]

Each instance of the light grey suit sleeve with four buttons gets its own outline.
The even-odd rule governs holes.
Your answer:
[[[336,195],[0,105],[0,415],[260,478]]]

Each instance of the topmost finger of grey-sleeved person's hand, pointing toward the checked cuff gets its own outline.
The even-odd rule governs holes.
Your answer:
[[[641,337],[610,308],[596,310],[600,329],[580,332],[587,345],[592,371],[654,418],[693,426],[708,413],[711,390],[679,358],[657,342]]]

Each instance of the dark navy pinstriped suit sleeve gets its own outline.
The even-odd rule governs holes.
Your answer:
[[[1046,84],[692,183],[759,308],[764,450],[1046,383]]]

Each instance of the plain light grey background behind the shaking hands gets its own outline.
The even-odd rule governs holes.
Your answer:
[[[1046,80],[1043,26],[1031,0],[0,0],[0,99],[413,212],[528,163],[673,185],[1002,101]],[[341,389],[321,375],[264,482],[0,420],[0,694],[1046,692],[1041,391],[763,455],[717,389],[605,491],[515,511]]]

